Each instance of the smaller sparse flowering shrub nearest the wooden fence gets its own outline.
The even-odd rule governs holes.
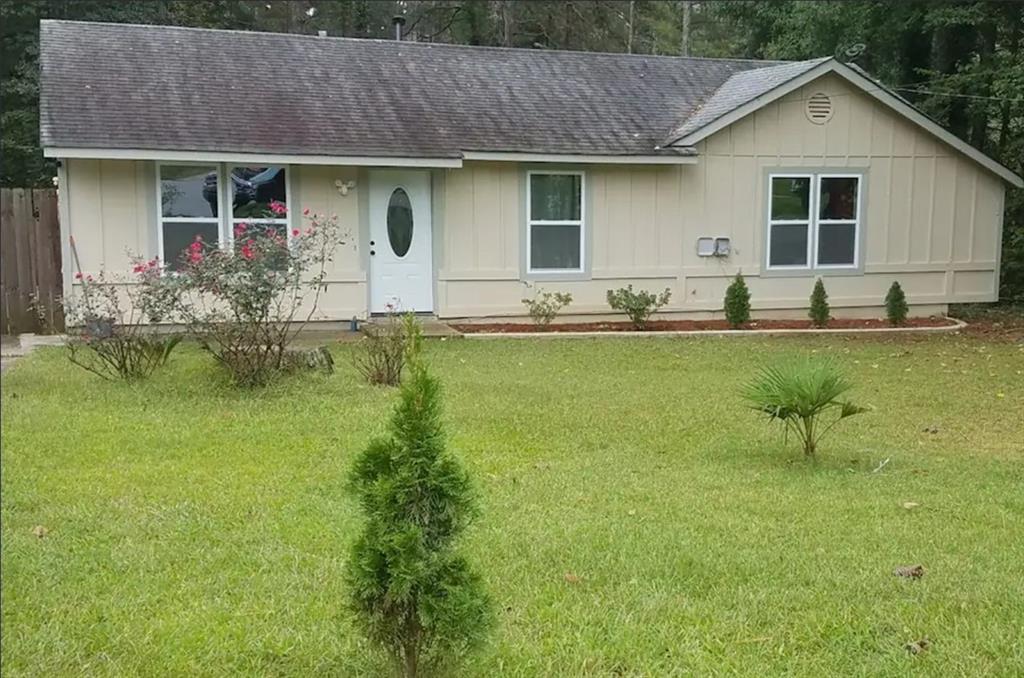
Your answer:
[[[80,292],[66,303],[66,345],[72,363],[103,379],[142,379],[167,363],[181,341],[148,323],[163,320],[174,303],[162,289],[160,262],[135,261],[135,279],[75,274]]]

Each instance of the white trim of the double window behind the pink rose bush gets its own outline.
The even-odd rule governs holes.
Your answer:
[[[217,224],[217,246],[221,249],[230,250],[234,247],[234,224],[246,223],[275,223],[285,226],[288,242],[292,242],[292,166],[282,163],[254,161],[251,163],[223,163],[223,162],[203,162],[203,161],[163,161],[157,162],[157,257],[160,258],[160,265],[166,268],[168,262],[164,259],[164,224],[165,223],[216,223]],[[217,216],[215,217],[165,217],[163,205],[163,181],[161,179],[161,168],[163,167],[213,167],[217,172]],[[273,167],[285,168],[285,205],[288,206],[288,213],[284,218],[261,218],[246,219],[234,217],[234,197],[231,190],[230,173],[237,167]],[[224,206],[226,205],[226,209]]]

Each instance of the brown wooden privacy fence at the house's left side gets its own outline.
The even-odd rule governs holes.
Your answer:
[[[0,188],[0,331],[63,330],[55,188]]]

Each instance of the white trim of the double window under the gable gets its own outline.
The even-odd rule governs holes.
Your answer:
[[[810,200],[808,202],[807,219],[772,219],[772,182],[774,179],[810,179]],[[821,219],[818,217],[819,203],[821,196],[821,179],[856,179],[857,180],[857,205],[855,218],[853,219]],[[861,174],[851,174],[849,172],[772,172],[768,174],[768,227],[765,230],[765,267],[767,270],[857,270],[860,268],[860,226],[863,222],[863,196],[864,179]],[[821,225],[829,224],[853,224],[853,263],[843,264],[819,264],[818,263],[818,239]],[[771,263],[771,240],[772,226],[775,225],[806,225],[807,226],[807,254],[804,265],[772,265]]]

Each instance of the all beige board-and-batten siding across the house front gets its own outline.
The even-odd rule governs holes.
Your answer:
[[[835,113],[825,125],[804,115],[823,91]],[[695,165],[590,165],[586,172],[587,280],[541,282],[571,292],[574,313],[608,313],[605,292],[632,283],[673,291],[667,310],[721,310],[730,278],[742,270],[756,313],[801,315],[814,273],[763,271],[767,173],[784,168],[862,172],[862,272],[829,273],[838,315],[878,314],[899,280],[914,312],[996,298],[1004,184],[842,78],[826,75],[717,132]],[[433,170],[435,312],[442,317],[521,315],[529,167],[466,162]],[[293,225],[309,208],[337,214],[348,243],[335,256],[319,317],[364,316],[368,307],[368,172],[293,166]],[[429,170],[423,170],[429,171]],[[127,270],[126,250],[158,254],[153,162],[67,160],[61,171],[66,236],[85,273]],[[338,181],[355,181],[342,196]],[[728,237],[727,258],[696,254],[700,236]],[[66,238],[67,240],[67,238]],[[69,261],[68,270],[75,264]],[[68,274],[71,281],[70,272]]]

